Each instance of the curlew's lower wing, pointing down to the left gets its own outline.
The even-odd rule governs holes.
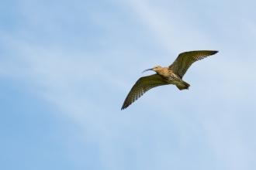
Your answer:
[[[144,93],[146,93],[147,90],[167,84],[169,83],[164,81],[164,79],[158,74],[140,77],[140,79],[137,80],[137,82],[133,85],[133,88],[128,93],[126,100],[124,100],[123,102],[123,107],[121,108],[121,110],[129,107],[130,104],[132,104],[135,100],[137,100]]]

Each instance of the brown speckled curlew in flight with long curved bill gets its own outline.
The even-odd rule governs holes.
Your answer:
[[[129,107],[130,104],[133,104],[135,100],[154,87],[173,84],[178,87],[179,90],[189,90],[190,84],[182,80],[182,77],[189,69],[189,66],[200,59],[204,59],[207,56],[212,56],[216,53],[218,53],[218,51],[188,51],[180,53],[177,59],[175,59],[170,66],[154,66],[151,69],[144,70],[142,73],[149,70],[156,73],[150,76],[142,76],[139,80],[137,80],[124,100],[121,110]]]

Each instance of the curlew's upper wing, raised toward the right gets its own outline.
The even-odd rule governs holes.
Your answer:
[[[218,51],[189,51],[185,53],[180,53],[175,59],[175,62],[169,66],[169,68],[181,78],[184,76],[189,66],[199,59],[204,59],[207,56],[218,53]]]

